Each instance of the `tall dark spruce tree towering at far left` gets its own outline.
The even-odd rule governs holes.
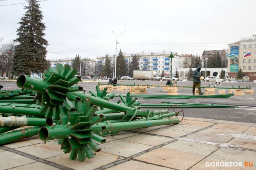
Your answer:
[[[47,61],[46,46],[48,41],[45,36],[45,24],[42,22],[43,14],[40,11],[37,0],[26,0],[26,13],[22,16],[17,29],[18,38],[14,41],[19,44],[15,46],[13,56],[13,72],[17,75],[28,74],[30,71],[43,72],[46,69]]]

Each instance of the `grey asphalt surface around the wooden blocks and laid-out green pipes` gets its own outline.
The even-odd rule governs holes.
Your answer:
[[[95,86],[98,82],[79,82],[78,85],[82,86],[86,93],[89,90],[95,91]],[[106,83],[106,82],[102,82]],[[165,81],[140,81],[140,80],[123,80],[119,81],[118,84],[149,84],[149,85],[165,85]],[[215,82],[202,82],[201,86],[208,86],[210,84],[213,87]],[[17,87],[16,82],[0,81],[0,84],[4,87]],[[191,86],[192,82],[178,82],[178,86]],[[256,91],[256,83],[245,83],[245,82],[223,82],[221,87],[246,87],[250,86]],[[217,86],[219,87],[219,86]],[[166,91],[162,91],[160,87],[148,88],[148,95],[167,95]],[[204,89],[202,88],[202,91]],[[114,91],[117,94],[126,94],[125,92]],[[227,90],[226,90],[227,93]],[[191,95],[192,88],[178,88],[179,95]],[[118,101],[119,98],[115,97],[113,101]],[[205,118],[205,119],[218,119],[224,121],[237,121],[237,122],[250,122],[256,123],[256,94],[245,95],[245,96],[232,96],[226,98],[198,98],[198,99],[139,99],[141,103],[147,104],[160,104],[161,101],[172,101],[172,102],[188,102],[188,103],[204,103],[204,104],[229,104],[239,106],[239,108],[184,108],[184,115],[187,117]],[[145,110],[145,109],[144,109]],[[159,110],[153,109],[152,110]]]

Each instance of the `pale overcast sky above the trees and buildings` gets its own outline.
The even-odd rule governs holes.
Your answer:
[[[0,5],[24,2],[1,0]],[[2,44],[17,38],[23,5],[0,6]],[[126,31],[118,37],[124,53],[198,55],[256,34],[256,0],[47,0],[40,7],[47,59],[115,54],[112,31]]]

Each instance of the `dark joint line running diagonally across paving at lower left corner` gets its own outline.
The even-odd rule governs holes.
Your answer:
[[[33,156],[33,155],[30,155],[30,154],[26,154],[24,152],[20,152],[18,150],[15,150],[15,149],[11,149],[11,148],[8,148],[6,146],[0,146],[0,149],[2,150],[5,150],[5,151],[8,151],[8,152],[12,152],[14,154],[18,154],[18,155],[22,155],[24,157],[27,157],[27,158],[30,158],[30,159],[33,159],[37,162],[41,162],[41,163],[44,163],[46,165],[50,165],[50,166],[53,166],[53,167],[56,167],[56,168],[59,168],[59,169],[62,169],[62,170],[74,170],[72,168],[69,168],[69,167],[66,167],[66,166],[63,166],[63,165],[59,165],[59,164],[56,164],[56,163],[53,163],[53,162],[50,162],[50,161],[46,161],[45,159],[42,159],[42,158],[39,158],[39,157],[36,157],[36,156]],[[22,165],[23,166],[23,165]]]

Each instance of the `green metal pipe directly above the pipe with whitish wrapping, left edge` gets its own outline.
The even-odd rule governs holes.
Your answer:
[[[33,115],[44,117],[44,113],[39,113],[37,108],[22,108],[22,107],[12,107],[12,106],[0,106],[0,113],[13,113],[20,115]]]

